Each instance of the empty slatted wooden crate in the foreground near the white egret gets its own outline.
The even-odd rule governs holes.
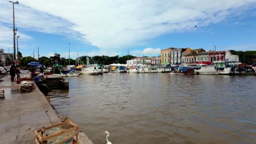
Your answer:
[[[64,127],[64,129],[60,129],[59,131],[56,131],[56,133],[51,133],[49,135],[46,135],[45,133],[42,134],[42,130],[47,131],[55,127]],[[36,130],[34,131],[34,133],[36,134],[36,137],[34,140],[36,141],[37,144],[47,144],[49,141],[54,141],[57,139],[58,136],[63,136],[63,135],[65,137],[63,137],[62,140],[56,142],[55,144],[60,144],[62,142],[65,142],[74,136],[75,136],[75,139],[73,139],[73,144],[78,144],[78,125],[73,123],[72,121],[65,121],[59,124],[51,125],[50,127]]]

